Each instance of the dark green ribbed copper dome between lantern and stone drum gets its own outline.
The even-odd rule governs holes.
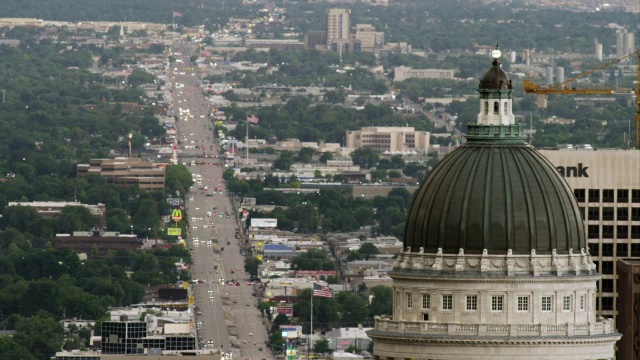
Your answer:
[[[457,254],[566,254],[586,248],[582,217],[567,183],[527,145],[523,125],[469,125],[416,191],[405,248]]]

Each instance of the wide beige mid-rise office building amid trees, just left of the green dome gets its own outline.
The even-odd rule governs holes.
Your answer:
[[[347,131],[346,143],[348,148],[370,146],[382,154],[406,154],[426,153],[430,139],[430,132],[413,127],[373,126]]]

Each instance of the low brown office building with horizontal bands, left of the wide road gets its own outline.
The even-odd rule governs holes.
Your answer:
[[[141,189],[164,189],[165,165],[126,157],[91,159],[89,164],[78,164],[77,175],[102,176],[122,187],[137,185]]]

